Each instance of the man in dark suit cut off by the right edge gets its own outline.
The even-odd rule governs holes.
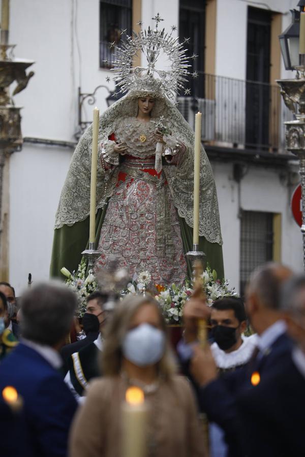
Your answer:
[[[305,455],[305,275],[285,284],[281,307],[294,340],[291,356],[268,373],[264,382],[243,393],[238,409],[247,423],[250,455],[301,457]]]

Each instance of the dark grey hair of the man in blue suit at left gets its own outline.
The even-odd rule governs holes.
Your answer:
[[[70,332],[76,306],[74,292],[59,282],[34,286],[21,298],[22,337],[48,346],[58,344]]]

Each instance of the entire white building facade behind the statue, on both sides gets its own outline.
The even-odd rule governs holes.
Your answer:
[[[258,2],[257,2],[258,3]],[[291,0],[265,0],[276,11],[295,7]],[[245,78],[247,3],[218,0],[216,73]],[[160,12],[160,26],[178,25],[178,1],[143,0],[142,20]],[[283,17],[283,29],[290,16]],[[15,55],[35,60],[35,76],[16,95],[22,110],[25,137],[74,141],[77,128],[77,87],[91,92],[106,83],[107,70],[99,68],[99,0],[11,0],[10,41],[17,44]],[[31,68],[32,70],[32,68]],[[111,76],[111,75],[110,75]],[[97,105],[106,108],[107,89],[102,89]],[[87,108],[90,117],[90,109]],[[24,144],[11,157],[10,165],[10,281],[19,294],[27,274],[33,280],[48,278],[53,238],[53,222],[72,150]],[[226,276],[239,283],[239,219],[237,186],[230,179],[230,166],[214,164],[218,188]],[[274,172],[267,172],[272,175]],[[301,267],[301,239],[288,208],[287,189],[278,179],[261,177],[250,171],[241,183],[244,209],[283,214],[283,261]],[[270,178],[270,179],[269,179]],[[259,186],[258,186],[259,182]],[[260,197],[260,187],[267,189]],[[266,209],[267,208],[267,209]],[[274,208],[274,209],[273,209]]]

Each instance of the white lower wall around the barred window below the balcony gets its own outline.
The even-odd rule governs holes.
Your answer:
[[[239,290],[240,220],[238,184],[232,178],[232,164],[214,162],[220,221],[223,236],[225,276]],[[292,187],[294,188],[294,187]],[[291,187],[281,182],[279,171],[250,166],[240,182],[240,208],[282,215],[282,262],[295,271],[302,269],[302,238],[291,208]]]

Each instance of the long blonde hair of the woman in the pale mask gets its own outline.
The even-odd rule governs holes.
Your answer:
[[[160,317],[161,330],[167,336],[167,327],[158,302],[151,296],[128,296],[122,300],[115,309],[107,328],[105,329],[105,344],[102,351],[102,372],[104,375],[116,376],[120,373],[123,361],[121,345],[129,330],[129,324],[133,316],[143,305],[154,306]],[[158,370],[161,375],[169,379],[176,371],[174,357],[166,338],[166,346],[163,357],[158,363]]]

